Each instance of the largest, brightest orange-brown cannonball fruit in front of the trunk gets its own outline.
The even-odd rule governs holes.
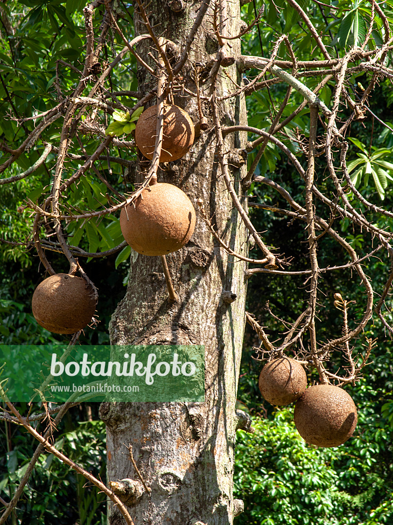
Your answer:
[[[126,208],[120,214],[120,227],[127,243],[139,254],[166,255],[180,250],[194,231],[192,202],[173,184],[153,184]]]

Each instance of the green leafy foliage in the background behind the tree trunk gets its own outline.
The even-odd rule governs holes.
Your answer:
[[[133,7],[122,3],[128,9],[127,16],[132,19]],[[243,7],[243,18],[251,20],[255,7],[249,3]],[[299,2],[306,10],[318,33],[332,54],[342,56],[348,46],[362,44],[365,27],[370,16],[369,3],[363,1],[332,2],[334,9],[323,8],[316,2]],[[84,26],[80,0],[24,0],[23,2],[1,3],[2,20],[7,17],[14,28],[14,34],[8,34],[5,25],[1,27],[0,42],[0,140],[10,147],[17,147],[33,129],[34,121],[18,125],[10,118],[31,116],[34,112],[45,111],[56,104],[56,62],[61,59],[77,69],[83,64]],[[248,55],[268,56],[272,49],[275,35],[287,33],[298,60],[320,59],[320,51],[312,42],[311,36],[304,29],[297,12],[283,0],[264,2],[265,13],[260,30],[257,29],[244,37],[243,52]],[[393,24],[391,2],[381,4],[389,22]],[[96,16],[94,26],[99,27],[101,16]],[[127,25],[133,36],[132,23]],[[381,21],[375,18],[373,38],[370,47],[379,46],[383,39]],[[115,46],[119,46],[115,38]],[[108,60],[112,57],[110,46],[105,50]],[[286,58],[282,47],[279,56]],[[391,63],[391,57],[389,56]],[[249,71],[252,78],[257,72]],[[69,67],[61,65],[61,86],[65,95],[72,92],[78,75]],[[349,87],[354,97],[361,96],[362,86],[367,85],[366,75],[359,74],[351,79]],[[303,79],[310,89],[318,83],[318,77]],[[123,67],[115,70],[108,79],[108,89],[137,89],[135,59],[129,57]],[[320,93],[322,100],[329,106],[334,83],[326,85]],[[251,126],[267,128],[272,121],[272,103],[277,108],[285,96],[286,86],[277,84],[269,90],[255,92],[247,99],[247,108]],[[122,98],[128,106],[133,103]],[[283,113],[287,117],[292,108],[301,102],[300,95],[292,91],[290,102]],[[370,99],[370,109],[381,120],[393,128],[391,104],[393,95],[388,81],[380,82],[375,94]],[[343,112],[345,114],[345,109]],[[308,108],[306,107],[294,119],[285,131],[298,128],[308,137]],[[273,115],[274,116],[274,115]],[[112,120],[111,120],[112,122]],[[321,129],[322,132],[322,129]],[[56,142],[58,131],[48,128],[42,133],[42,141]],[[359,191],[370,201],[381,204],[387,209],[393,206],[390,195],[393,176],[393,134],[370,114],[362,122],[354,122],[350,130],[354,147],[350,160],[353,171],[351,176]],[[249,137],[252,139],[253,137]],[[96,139],[84,137],[86,151],[94,151]],[[288,147],[303,162],[298,146],[294,141],[286,140]],[[43,142],[38,149],[20,156],[18,161],[7,170],[6,176],[19,174],[37,161],[43,151]],[[124,155],[118,152],[119,156]],[[256,152],[249,155],[249,164]],[[0,153],[2,156],[3,153]],[[127,153],[132,158],[132,153]],[[26,195],[34,199],[41,194],[42,188],[51,182],[51,170],[56,163],[56,154],[50,153],[44,166],[35,173],[14,184],[0,186],[0,237],[5,240],[30,238],[30,220],[17,211]],[[127,189],[125,167],[113,166],[109,174],[102,166],[107,177],[112,178],[119,191]],[[256,174],[262,174],[281,184],[296,198],[301,195],[304,185],[296,171],[282,154],[271,144],[268,145],[261,159]],[[329,180],[319,173],[318,184],[323,191],[329,191]],[[82,209],[97,208],[105,203],[105,190],[92,175],[86,174],[81,179],[77,190],[71,195],[71,204]],[[266,186],[253,183],[250,188],[252,200],[258,203],[275,204],[277,194]],[[322,216],[324,211],[317,210]],[[329,220],[329,217],[325,217]],[[283,247],[287,256],[293,256],[293,270],[307,267],[307,247],[302,225],[287,227],[287,220],[272,215],[270,212],[255,212],[253,219],[259,230],[267,230],[267,244]],[[391,229],[391,219],[373,217],[380,227]],[[364,253],[372,249],[362,232],[342,221],[340,229],[354,247]],[[117,217],[106,217],[101,223],[90,221],[84,225],[72,226],[69,231],[71,244],[89,251],[103,251],[116,246],[122,239]],[[327,238],[320,243],[320,266],[336,264],[342,260],[343,253]],[[62,336],[50,334],[40,328],[31,315],[30,300],[32,292],[42,280],[44,274],[39,267],[38,258],[33,251],[26,252],[23,246],[0,245],[0,336],[6,344],[50,343],[63,340]],[[252,252],[253,253],[253,252]],[[124,296],[124,284],[127,282],[127,258],[129,250],[115,254],[104,260],[90,260],[86,269],[100,291],[99,312],[101,323],[92,331],[86,331],[82,343],[108,343],[107,326],[116,304]],[[57,254],[51,255],[53,266],[58,271],[67,271],[67,262]],[[386,280],[390,261],[370,259],[367,263],[368,275],[372,276],[376,288]],[[99,284],[98,284],[99,283]],[[328,272],[321,282],[326,301],[321,307],[319,334],[329,338],[341,330],[341,319],[332,307],[333,293],[340,291],[346,299],[356,301],[351,311],[353,322],[360,316],[363,306],[362,289],[352,279],[350,270],[346,272]],[[297,318],[307,299],[302,279],[254,276],[248,285],[248,310],[256,314],[261,324],[268,325],[268,334],[275,340],[285,329],[276,319],[272,319],[265,308],[270,307],[278,318],[289,316]],[[391,301],[388,301],[388,306]],[[391,321],[391,315],[387,314]],[[377,337],[378,345],[373,356],[374,363],[364,374],[364,379],[355,387],[348,388],[358,406],[359,422],[353,438],[345,445],[333,449],[316,448],[304,443],[293,423],[293,408],[274,409],[264,402],[257,388],[260,364],[251,358],[252,345],[256,344],[255,334],[247,332],[241,380],[239,384],[239,407],[248,411],[254,421],[254,435],[238,432],[237,462],[235,469],[235,497],[245,502],[245,511],[236,523],[262,525],[379,525],[393,522],[393,400],[392,400],[392,353],[391,341],[386,338],[380,323],[369,323],[368,337]],[[356,350],[362,352],[362,342],[357,341]],[[334,356],[332,370],[342,364],[339,355]],[[310,382],[316,379],[309,377]],[[19,407],[24,410],[26,407]],[[64,419],[58,434],[57,445],[84,468],[92,470],[96,476],[105,480],[105,430],[99,421],[97,406],[92,405],[92,419],[86,407],[75,407]],[[34,412],[41,411],[37,404]],[[0,495],[8,500],[12,497],[18,480],[27,468],[29,457],[36,447],[35,443],[18,427],[0,423],[2,439],[0,443]],[[51,455],[43,454],[31,477],[23,497],[19,501],[17,515],[12,523],[38,523],[61,525],[74,523],[79,525],[102,525],[105,522],[105,502],[91,487],[83,488],[84,480],[68,467],[59,463]]]

